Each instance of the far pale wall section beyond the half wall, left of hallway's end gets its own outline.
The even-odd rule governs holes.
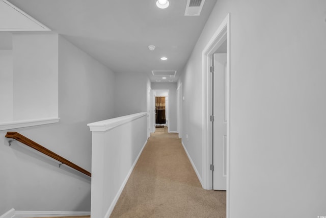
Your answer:
[[[146,74],[117,73],[115,75],[115,117],[147,111],[147,87],[151,87]]]

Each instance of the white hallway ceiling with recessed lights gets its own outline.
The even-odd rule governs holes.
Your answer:
[[[145,72],[155,82],[152,70],[177,70],[176,82],[216,0],[200,16],[184,16],[187,0],[169,1],[159,9],[156,0],[9,0],[116,73]]]

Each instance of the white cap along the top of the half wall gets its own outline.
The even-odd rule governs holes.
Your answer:
[[[135,113],[126,116],[120,116],[112,119],[101,120],[99,122],[87,124],[87,126],[90,127],[91,131],[106,131],[121,126],[125,123],[128,123],[134,119],[138,119],[143,116],[147,116],[147,113],[141,112],[141,113]]]

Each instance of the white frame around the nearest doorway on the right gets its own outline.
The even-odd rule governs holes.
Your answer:
[[[202,120],[203,120],[203,130],[202,130],[202,186],[205,189],[212,189],[212,171],[210,171],[210,164],[212,164],[212,131],[211,131],[211,122],[209,116],[211,115],[212,108],[212,94],[211,94],[211,78],[210,78],[210,64],[212,61],[212,55],[215,51],[221,46],[221,44],[227,40],[227,217],[229,217],[229,202],[230,202],[230,98],[231,98],[231,14],[229,13],[226,18],[223,20],[221,25],[215,31],[212,38],[206,44],[202,52]]]

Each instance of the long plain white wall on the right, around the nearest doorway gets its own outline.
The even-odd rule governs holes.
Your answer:
[[[230,12],[229,217],[326,214],[325,8],[220,0],[185,67],[183,142],[202,173],[201,52]]]

